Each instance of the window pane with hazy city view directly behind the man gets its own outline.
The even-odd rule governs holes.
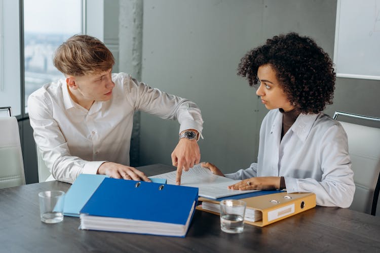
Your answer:
[[[24,0],[25,113],[32,92],[63,77],[53,65],[53,53],[79,33],[83,33],[82,0]]]

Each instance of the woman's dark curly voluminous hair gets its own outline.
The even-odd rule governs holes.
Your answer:
[[[318,113],[332,104],[335,72],[328,54],[315,41],[291,32],[267,39],[240,61],[238,75],[257,85],[257,70],[270,64],[290,103],[301,113]]]

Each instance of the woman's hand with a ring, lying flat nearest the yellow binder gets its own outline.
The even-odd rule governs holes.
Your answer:
[[[276,190],[280,189],[281,177],[257,177],[240,181],[230,185],[232,190]]]

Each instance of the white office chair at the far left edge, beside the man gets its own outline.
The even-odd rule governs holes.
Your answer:
[[[25,184],[18,123],[12,117],[11,107],[0,107],[9,116],[0,117],[0,188]]]

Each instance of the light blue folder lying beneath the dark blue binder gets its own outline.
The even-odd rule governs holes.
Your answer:
[[[79,217],[79,212],[87,203],[106,175],[80,174],[65,194],[63,214]],[[154,183],[166,184],[166,179],[149,178]]]

